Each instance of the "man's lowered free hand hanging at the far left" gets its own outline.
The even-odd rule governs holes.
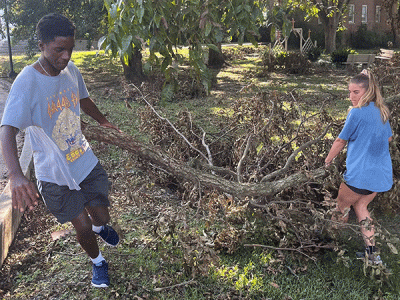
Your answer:
[[[10,178],[12,206],[20,212],[24,212],[25,208],[33,210],[38,204],[39,193],[33,182],[24,176]]]

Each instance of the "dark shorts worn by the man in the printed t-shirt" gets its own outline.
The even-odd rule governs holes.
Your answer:
[[[108,201],[109,181],[106,171],[98,163],[79,184],[81,190],[70,190],[66,185],[38,181],[39,192],[47,208],[61,224],[71,221],[85,206],[110,206]]]

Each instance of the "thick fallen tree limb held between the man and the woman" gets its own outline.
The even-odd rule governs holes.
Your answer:
[[[238,183],[207,171],[192,168],[184,162],[169,157],[162,150],[141,143],[132,136],[119,133],[116,130],[88,125],[83,127],[83,133],[89,140],[97,140],[118,146],[148,163],[157,165],[165,172],[174,176],[182,184],[191,182],[203,188],[215,189],[241,199],[246,197],[273,196],[284,189],[298,187],[310,180],[323,178],[328,175],[324,168],[319,168],[308,173],[299,172],[272,182]]]

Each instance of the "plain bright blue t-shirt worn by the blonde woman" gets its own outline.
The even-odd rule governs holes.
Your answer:
[[[389,141],[392,130],[383,123],[375,102],[353,108],[339,138],[348,141],[344,180],[373,192],[386,192],[393,185]]]

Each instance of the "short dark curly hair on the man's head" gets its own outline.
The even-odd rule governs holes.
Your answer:
[[[56,37],[75,36],[75,25],[67,17],[51,13],[42,17],[36,25],[36,34],[39,41],[48,43]]]

